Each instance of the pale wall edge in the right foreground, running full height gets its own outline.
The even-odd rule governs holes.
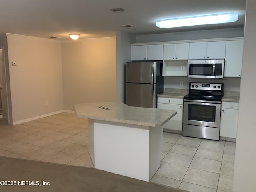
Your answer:
[[[247,0],[233,192],[256,191],[256,1]]]

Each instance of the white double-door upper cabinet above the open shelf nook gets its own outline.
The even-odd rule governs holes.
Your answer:
[[[189,43],[164,44],[164,60],[188,60]]]

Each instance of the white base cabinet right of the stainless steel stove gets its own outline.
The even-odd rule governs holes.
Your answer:
[[[236,138],[237,120],[238,120],[237,102],[222,102],[220,116],[220,136],[227,138]]]

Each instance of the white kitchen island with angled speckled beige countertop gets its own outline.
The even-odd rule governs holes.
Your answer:
[[[89,153],[96,169],[144,181],[152,178],[160,167],[162,125],[176,111],[121,102],[75,104],[74,109],[77,117],[88,118]]]

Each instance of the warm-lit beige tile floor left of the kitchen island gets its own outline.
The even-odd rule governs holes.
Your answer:
[[[87,119],[60,113],[15,126],[1,119],[0,156],[93,167]]]

